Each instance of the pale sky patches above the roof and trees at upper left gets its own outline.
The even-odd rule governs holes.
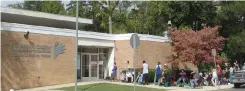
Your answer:
[[[41,1],[41,0],[40,0]],[[64,5],[68,4],[70,0],[61,0]],[[9,4],[23,3],[24,0],[1,0],[1,7],[7,7]]]

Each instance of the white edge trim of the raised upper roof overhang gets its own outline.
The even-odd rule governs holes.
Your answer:
[[[13,8],[2,8],[1,7],[1,12],[9,13],[9,14],[31,16],[31,17],[39,17],[39,18],[47,18],[47,19],[54,19],[54,20],[76,22],[75,21],[76,17],[59,15],[59,14],[50,14],[50,13],[38,12],[38,11],[23,10],[23,9],[13,9]],[[85,24],[93,24],[92,19],[86,19],[86,18],[78,18],[78,22],[79,23],[85,23]]]

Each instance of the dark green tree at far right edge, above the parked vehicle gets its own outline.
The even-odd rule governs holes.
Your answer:
[[[243,50],[239,48],[244,45],[243,32],[245,31],[245,2],[222,2],[220,9],[218,10],[219,20],[217,23],[222,26],[220,29],[220,35],[228,38],[225,41],[224,52],[230,59],[230,62],[234,60],[241,60],[245,58],[243,56]]]

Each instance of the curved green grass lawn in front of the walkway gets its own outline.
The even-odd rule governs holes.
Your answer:
[[[77,86],[77,91],[133,91],[133,86],[126,85],[117,85],[110,83],[98,83],[98,84],[90,84],[90,85],[81,85]],[[74,91],[73,87],[65,87],[59,88],[55,90],[62,91]],[[146,88],[146,87],[136,87],[137,91],[165,91],[164,89],[155,89],[155,88]]]

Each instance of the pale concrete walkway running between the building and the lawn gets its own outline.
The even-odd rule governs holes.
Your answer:
[[[79,82],[78,85],[88,85],[88,84],[95,84],[95,83],[111,83],[111,84],[118,84],[118,85],[134,86],[133,83],[108,82],[108,81]],[[74,83],[55,85],[55,86],[45,86],[45,87],[38,87],[38,88],[31,88],[31,89],[22,89],[22,90],[15,90],[15,91],[58,91],[58,90],[52,90],[52,89],[62,88],[62,87],[71,87],[71,86],[74,86]],[[214,90],[218,90],[217,87],[213,87],[213,86],[203,86],[202,89],[189,89],[189,88],[183,88],[183,87],[163,87],[163,86],[155,86],[153,84],[136,85],[136,86],[156,88],[156,89],[166,89],[167,91],[214,91]],[[220,89],[229,89],[232,87],[233,85],[221,85]]]

